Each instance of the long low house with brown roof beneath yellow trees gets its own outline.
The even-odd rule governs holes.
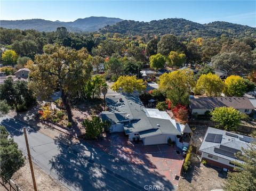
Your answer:
[[[190,113],[198,115],[205,114],[206,111],[212,111],[215,107],[234,107],[238,111],[251,114],[254,106],[247,97],[201,97],[191,98],[189,109]]]

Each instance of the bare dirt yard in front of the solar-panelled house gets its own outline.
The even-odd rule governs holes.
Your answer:
[[[179,181],[178,191],[222,189],[226,176],[226,172],[219,168],[203,165],[193,155],[190,169]]]

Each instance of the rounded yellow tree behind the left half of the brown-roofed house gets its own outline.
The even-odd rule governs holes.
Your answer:
[[[222,80],[216,74],[202,74],[197,80],[194,93],[197,95],[220,96],[223,85]]]

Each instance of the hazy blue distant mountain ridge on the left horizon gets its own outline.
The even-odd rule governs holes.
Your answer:
[[[102,27],[110,26],[117,22],[123,21],[119,18],[107,18],[104,16],[91,16],[89,18],[77,19],[73,22],[47,21],[44,19],[27,19],[7,21],[2,20],[1,27],[9,29],[35,29],[38,31],[55,31],[57,27],[66,27],[70,32],[92,32]]]

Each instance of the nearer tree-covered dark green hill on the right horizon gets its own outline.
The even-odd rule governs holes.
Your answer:
[[[252,36],[256,37],[256,29],[253,27],[233,24],[229,22],[211,22],[200,24],[186,19],[163,19],[153,20],[150,22],[139,22],[124,20],[106,26],[99,32],[117,32],[120,34],[143,35],[143,34],[174,34],[177,36],[194,36],[194,37],[218,37],[225,34],[229,37]]]

